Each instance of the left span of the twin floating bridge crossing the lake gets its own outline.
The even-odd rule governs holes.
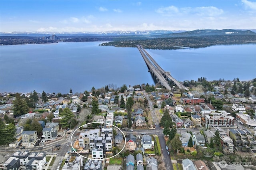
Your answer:
[[[137,45],[140,54],[142,55],[144,61],[146,62],[146,64],[148,65],[150,71],[152,71],[152,73],[154,73],[154,75],[157,77],[158,82],[160,82],[166,89],[168,90],[172,90],[172,88],[170,87],[170,85],[168,84],[168,82],[166,81],[166,79],[164,78],[164,76],[162,75],[162,73],[158,70],[158,68],[156,68],[148,59],[148,57],[145,55],[145,53],[142,51],[142,47],[139,47],[139,45]]]

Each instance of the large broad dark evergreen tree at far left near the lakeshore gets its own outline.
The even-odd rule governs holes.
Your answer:
[[[28,113],[27,103],[24,99],[22,99],[19,93],[16,93],[15,100],[13,101],[12,104],[13,104],[12,111],[14,113],[14,117]]]

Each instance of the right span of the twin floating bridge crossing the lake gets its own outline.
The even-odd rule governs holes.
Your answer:
[[[160,73],[162,74],[162,75],[166,75],[166,77],[168,78],[168,79],[170,79],[170,80],[172,80],[180,89],[185,89],[185,90],[187,90],[188,91],[188,88],[187,87],[185,87],[184,85],[182,85],[180,82],[178,82],[176,79],[174,79],[174,77],[172,77],[171,75],[170,75],[170,72],[167,72],[167,71],[164,71],[164,69],[162,69],[162,67],[160,67],[160,65],[158,65],[158,63],[149,55],[149,53],[143,48],[143,47],[141,47],[141,45],[137,45],[137,47],[138,47],[138,49],[139,50],[143,50],[144,51],[144,53],[150,58],[150,60],[152,61],[152,63],[156,66],[156,68],[160,71]],[[142,52],[140,52],[140,53],[142,53]],[[142,57],[143,57],[143,55],[142,55]],[[144,57],[143,57],[144,58]],[[144,59],[145,60],[145,59]],[[148,60],[149,61],[149,60]],[[150,61],[149,61],[150,62]],[[152,65],[152,63],[150,62],[150,64]]]

